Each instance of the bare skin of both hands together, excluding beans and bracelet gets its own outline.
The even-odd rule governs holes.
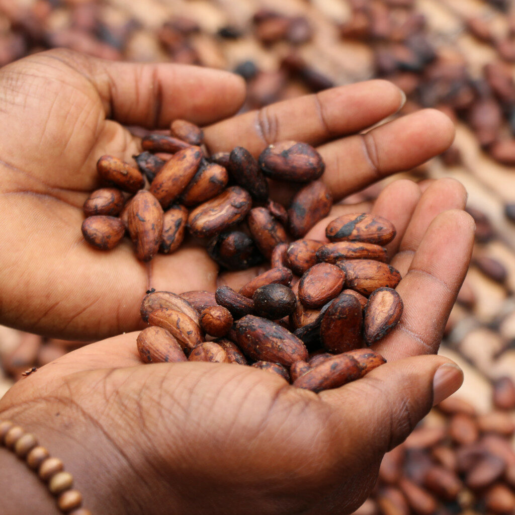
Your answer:
[[[0,258],[0,321],[67,338],[138,329],[148,287],[217,283],[217,268],[193,243],[142,264],[129,242],[108,253],[83,242],[81,207],[97,186],[96,160],[105,153],[130,160],[140,148],[121,124],[162,128],[190,119],[206,126],[213,152],[238,144],[257,155],[271,140],[307,141],[327,163],[323,180],[336,199],[425,161],[453,137],[448,119],[432,110],[357,135],[400,107],[399,90],[384,81],[232,118],[242,82],[198,68],[59,50],[6,66],[0,84],[9,128],[0,146],[0,238],[9,249]],[[403,276],[405,310],[374,346],[388,363],[364,379],[315,394],[240,365],[142,365],[137,333],[128,333],[16,383],[0,401],[0,419],[20,423],[62,458],[95,513],[350,512],[369,494],[384,453],[461,383],[461,371],[434,354],[470,259],[465,200],[449,179],[422,187],[396,181],[373,204],[333,208],[331,217],[371,211],[398,229],[388,250]],[[324,224],[308,237],[322,237]],[[253,273],[218,281],[238,285]],[[20,461],[0,449],[0,463],[8,515],[57,513]],[[13,492],[13,481],[26,489]]]

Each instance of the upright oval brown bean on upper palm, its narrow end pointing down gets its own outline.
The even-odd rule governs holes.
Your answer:
[[[136,258],[150,261],[159,250],[163,234],[163,208],[156,197],[145,190],[136,193],[129,205],[127,228]]]

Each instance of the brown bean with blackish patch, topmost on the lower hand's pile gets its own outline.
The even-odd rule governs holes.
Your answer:
[[[339,216],[329,223],[325,235],[331,242],[364,242],[387,245],[396,235],[393,224],[367,213]]]

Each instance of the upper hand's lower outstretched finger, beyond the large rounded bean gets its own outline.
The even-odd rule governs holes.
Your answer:
[[[319,147],[325,162],[322,180],[340,199],[437,156],[453,138],[451,120],[440,111],[424,109]]]

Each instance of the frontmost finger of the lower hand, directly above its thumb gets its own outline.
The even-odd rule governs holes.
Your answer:
[[[443,335],[472,255],[475,224],[465,211],[438,215],[427,229],[397,291],[401,321],[373,349],[390,361],[433,354]]]

